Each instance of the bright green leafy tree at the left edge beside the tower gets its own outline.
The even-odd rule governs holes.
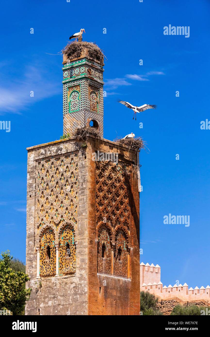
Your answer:
[[[29,281],[30,278],[23,271],[12,270],[12,256],[9,250],[2,252],[1,256],[0,309],[10,310],[13,315],[23,314],[25,303],[29,300],[31,294],[31,288],[25,289],[24,284]]]

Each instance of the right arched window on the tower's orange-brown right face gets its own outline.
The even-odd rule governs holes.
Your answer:
[[[114,275],[127,277],[127,242],[123,231],[116,236],[116,251],[114,258]]]

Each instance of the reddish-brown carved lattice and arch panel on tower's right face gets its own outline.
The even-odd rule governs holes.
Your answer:
[[[116,165],[110,161],[96,162],[96,234],[100,248],[98,248],[99,273],[109,274],[111,271],[110,260],[107,260],[106,264],[102,260],[102,240],[106,248],[109,247],[107,242],[115,247],[114,275],[127,277],[127,248],[131,221],[130,172],[131,167],[124,163]],[[103,232],[101,228],[105,228]]]

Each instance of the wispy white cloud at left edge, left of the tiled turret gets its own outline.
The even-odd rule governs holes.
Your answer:
[[[23,78],[13,78],[12,85],[0,81],[0,114],[6,112],[21,114],[20,110],[27,109],[31,104],[60,92],[58,84],[49,81],[40,66],[28,66]],[[30,92],[34,97],[30,97]]]

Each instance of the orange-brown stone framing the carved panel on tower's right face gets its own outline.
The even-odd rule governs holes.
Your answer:
[[[116,275],[97,274],[97,219],[95,218],[95,163],[90,160],[90,207],[88,221],[88,314],[90,315],[139,315],[140,313],[140,274],[139,274],[139,192],[138,192],[138,177],[137,177],[137,153],[122,147],[114,142],[103,140],[90,140],[90,151],[87,156],[92,156],[92,153],[97,150],[104,153],[118,153],[118,165],[130,167],[130,216],[129,216],[129,248],[130,248],[130,279]],[[91,153],[92,152],[92,153]],[[90,158],[91,159],[91,158]],[[102,165],[103,166],[103,165]],[[103,167],[104,168],[104,167]],[[117,186],[117,175],[116,175]],[[119,213],[121,213],[120,205]],[[112,208],[111,208],[112,209]],[[128,209],[127,209],[128,211]],[[113,232],[115,232],[115,220],[111,217],[109,210],[101,214],[108,219],[111,219]],[[117,214],[115,215],[117,218]],[[125,216],[126,218],[126,216]],[[124,219],[124,218],[123,218]],[[116,256],[115,256],[116,258]],[[115,271],[114,271],[115,273]]]

